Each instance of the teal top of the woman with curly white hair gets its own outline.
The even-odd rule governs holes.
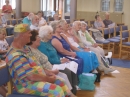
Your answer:
[[[40,46],[38,47],[39,51],[44,53],[51,64],[60,64],[60,57],[57,54],[56,49],[52,46],[51,42],[41,41]]]

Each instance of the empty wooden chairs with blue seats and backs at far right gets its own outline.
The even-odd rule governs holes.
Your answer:
[[[108,35],[108,38],[105,41],[96,41],[96,42],[102,48],[107,49],[107,51],[112,51],[113,54],[118,49],[119,58],[121,58],[122,52],[124,52],[124,49],[122,47],[127,47],[127,48],[130,47],[130,43],[129,43],[130,33],[128,30],[128,26],[126,25],[117,26],[113,28],[103,28],[102,34],[103,36]]]

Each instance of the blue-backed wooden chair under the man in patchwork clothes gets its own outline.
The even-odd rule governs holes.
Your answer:
[[[34,96],[34,95],[25,95],[25,94],[19,94],[16,92],[13,92],[13,85],[11,82],[11,77],[9,75],[8,66],[2,66],[0,67],[0,86],[8,83],[8,93],[7,97],[41,97],[41,96]]]

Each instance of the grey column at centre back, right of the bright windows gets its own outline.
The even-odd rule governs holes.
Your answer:
[[[77,12],[77,0],[71,0],[70,1],[70,21],[73,22],[73,20],[76,19],[76,13]]]

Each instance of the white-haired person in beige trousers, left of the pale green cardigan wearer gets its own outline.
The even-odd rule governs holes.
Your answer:
[[[79,45],[82,47],[82,48],[89,48],[91,51],[93,51],[97,58],[98,58],[98,61],[99,61],[99,67],[98,69],[100,71],[104,71],[104,74],[108,74],[112,71],[114,71],[113,69],[111,68],[107,68],[104,66],[102,60],[101,60],[101,56],[104,56],[104,51],[103,49],[99,48],[98,45],[95,43],[95,41],[92,39],[92,37],[88,36],[89,37],[89,41],[85,41],[83,39],[86,39],[86,38],[83,38],[81,37],[82,36],[86,36],[86,35],[83,35],[84,33],[82,32],[81,28],[84,28],[85,31],[86,31],[86,25],[85,27],[83,27],[84,25],[81,26],[81,22],[80,21],[75,21],[73,23],[73,33],[74,33],[74,39],[77,41],[77,43],[79,43]],[[90,45],[90,42],[93,41],[93,45]],[[89,45],[89,46],[88,46]],[[89,51],[89,50],[88,50]],[[100,51],[100,52],[99,52]]]

